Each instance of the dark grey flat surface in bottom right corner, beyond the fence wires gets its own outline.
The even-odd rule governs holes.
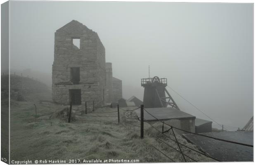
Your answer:
[[[253,132],[230,131],[209,132],[203,134],[211,137],[217,137],[219,139],[253,145]],[[195,134],[185,134],[183,136],[188,141],[201,147],[202,150],[208,153],[210,156],[220,161],[253,161],[253,147],[210,139]]]

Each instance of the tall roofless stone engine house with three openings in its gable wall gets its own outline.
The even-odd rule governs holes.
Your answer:
[[[64,105],[85,101],[104,104],[105,48],[97,33],[73,20],[55,32],[54,47],[53,101]]]

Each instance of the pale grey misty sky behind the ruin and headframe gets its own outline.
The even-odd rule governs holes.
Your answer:
[[[253,115],[253,5],[167,2],[10,2],[10,67],[51,79],[54,33],[71,20],[97,32],[123,80],[123,97],[143,98],[140,79],[168,85],[220,124]],[[209,120],[171,93],[182,111]]]

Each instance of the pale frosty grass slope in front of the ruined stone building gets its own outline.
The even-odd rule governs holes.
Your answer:
[[[158,141],[155,137],[166,141],[178,149],[175,142],[159,134],[145,123],[145,138],[140,139],[140,122],[135,118],[135,112],[120,110],[121,120],[117,117],[88,117],[77,114],[71,123],[67,123],[59,115],[67,106],[49,102],[36,103],[37,116],[33,102],[13,101],[10,120],[10,158],[11,160],[49,160],[62,159],[126,159],[140,162],[172,162],[157,151],[153,146],[164,152],[175,162],[184,162],[180,153]],[[75,107],[74,107],[75,108]],[[134,107],[131,107],[132,109]],[[128,108],[126,108],[127,110]],[[66,111],[66,110],[64,110]],[[95,112],[116,111],[116,108],[97,108]],[[88,115],[116,116],[117,113],[88,113]],[[102,122],[86,122],[99,120]],[[161,123],[154,123],[161,130]],[[171,133],[166,135],[173,137]],[[179,142],[197,149],[178,135]],[[213,161],[194,151],[182,147],[188,156],[197,161]],[[186,158],[187,161],[192,161]]]

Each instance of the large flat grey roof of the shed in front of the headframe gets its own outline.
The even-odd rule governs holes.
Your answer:
[[[168,120],[168,119],[181,119],[181,118],[190,118],[195,119],[196,117],[193,115],[190,115],[188,113],[185,113],[183,111],[180,111],[175,108],[145,108],[146,111],[151,113],[153,116],[158,118],[159,120]],[[149,115],[144,111],[144,119],[145,120],[156,120],[153,116]],[[140,109],[136,110],[137,116],[140,118]]]

